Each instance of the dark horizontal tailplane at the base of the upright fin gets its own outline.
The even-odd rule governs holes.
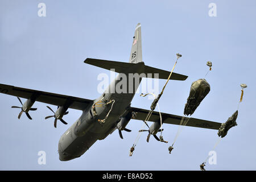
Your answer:
[[[84,63],[94,65],[96,67],[104,68],[104,69],[115,69],[115,72],[117,73],[124,73],[127,68],[134,65],[134,63],[125,63],[125,62],[119,62],[119,61],[108,61],[108,60],[100,60],[100,59],[90,59],[87,58]],[[163,69],[148,67],[144,65],[144,73],[146,76],[148,76],[148,73],[152,73],[154,77],[154,73],[159,74],[159,79],[167,79],[171,72],[165,71]],[[188,76],[180,75],[178,73],[172,73],[171,80],[186,80]]]

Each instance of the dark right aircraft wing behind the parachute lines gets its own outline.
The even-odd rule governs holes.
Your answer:
[[[127,110],[134,111],[136,113],[136,117],[133,119],[138,119],[138,120],[144,120],[149,111],[146,109],[139,109],[139,108],[135,108],[135,107],[129,107]],[[182,116],[179,116],[179,115],[166,114],[166,113],[161,113],[161,114],[162,114],[163,123],[168,123],[168,124],[172,124],[172,125],[180,125],[181,118],[183,118]],[[152,121],[152,122],[160,121],[159,112],[153,111],[149,121]],[[221,126],[221,123],[207,121],[207,120],[203,120],[203,119],[190,118],[188,120],[188,123],[186,126],[218,130]]]

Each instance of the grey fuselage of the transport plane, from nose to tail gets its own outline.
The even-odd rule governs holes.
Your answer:
[[[140,62],[133,64],[129,69],[123,73],[119,73],[114,81],[109,85],[108,89],[96,100],[93,101],[91,105],[86,107],[82,112],[82,115],[65,133],[61,136],[59,140],[59,159],[61,161],[72,160],[79,158],[84,154],[97,140],[102,140],[108,137],[117,126],[119,118],[126,113],[126,108],[131,104],[134,94],[138,89],[141,82],[139,80],[134,80],[136,78],[130,78],[129,73],[141,74],[144,72],[144,63]],[[115,92],[115,87],[120,80],[122,80],[122,74],[127,75],[127,93],[117,93]],[[131,81],[131,79],[133,79]],[[132,84],[131,84],[132,83]],[[131,88],[133,92],[129,92]],[[113,92],[114,90],[114,92]],[[112,104],[106,107],[92,107],[96,102],[99,102],[102,97],[104,100],[112,101],[114,100],[112,111],[109,113]],[[96,112],[95,112],[96,111]],[[95,113],[97,115],[95,115]],[[104,123],[99,122],[99,119],[104,119],[109,113],[108,118],[106,118]]]

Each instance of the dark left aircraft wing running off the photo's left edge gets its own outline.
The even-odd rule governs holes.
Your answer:
[[[46,104],[56,106],[63,106],[64,104],[68,103],[69,108],[77,110],[84,110],[91,102],[93,102],[93,100],[88,100],[85,98],[65,96],[56,93],[42,92],[39,90],[19,88],[4,84],[0,84],[0,93],[27,99],[34,96],[38,102],[44,102]]]

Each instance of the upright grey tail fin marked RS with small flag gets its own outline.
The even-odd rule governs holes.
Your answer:
[[[141,23],[138,23],[135,28],[133,44],[131,46],[131,54],[129,59],[129,63],[139,62],[142,62]]]

